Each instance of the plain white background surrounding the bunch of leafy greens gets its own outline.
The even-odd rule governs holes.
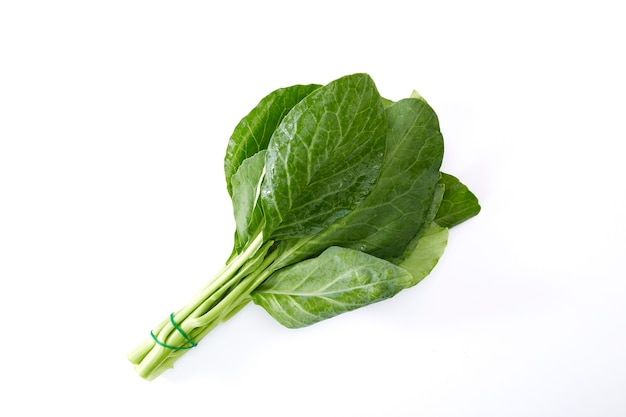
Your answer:
[[[619,4],[3,1],[0,414],[626,415]],[[353,72],[430,102],[481,214],[392,300],[295,331],[250,305],[140,379],[230,252],[236,123]]]

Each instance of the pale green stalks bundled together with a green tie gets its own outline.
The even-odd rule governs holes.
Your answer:
[[[250,293],[275,271],[271,265],[276,254],[268,254],[272,243],[263,243],[259,233],[185,307],[174,313],[173,321],[182,332],[169,317],[159,323],[152,333],[166,346],[156,343],[151,336],[132,350],[128,360],[135,365],[137,373],[147,380],[156,378],[192,347],[183,333],[197,344],[246,306],[251,300]]]

